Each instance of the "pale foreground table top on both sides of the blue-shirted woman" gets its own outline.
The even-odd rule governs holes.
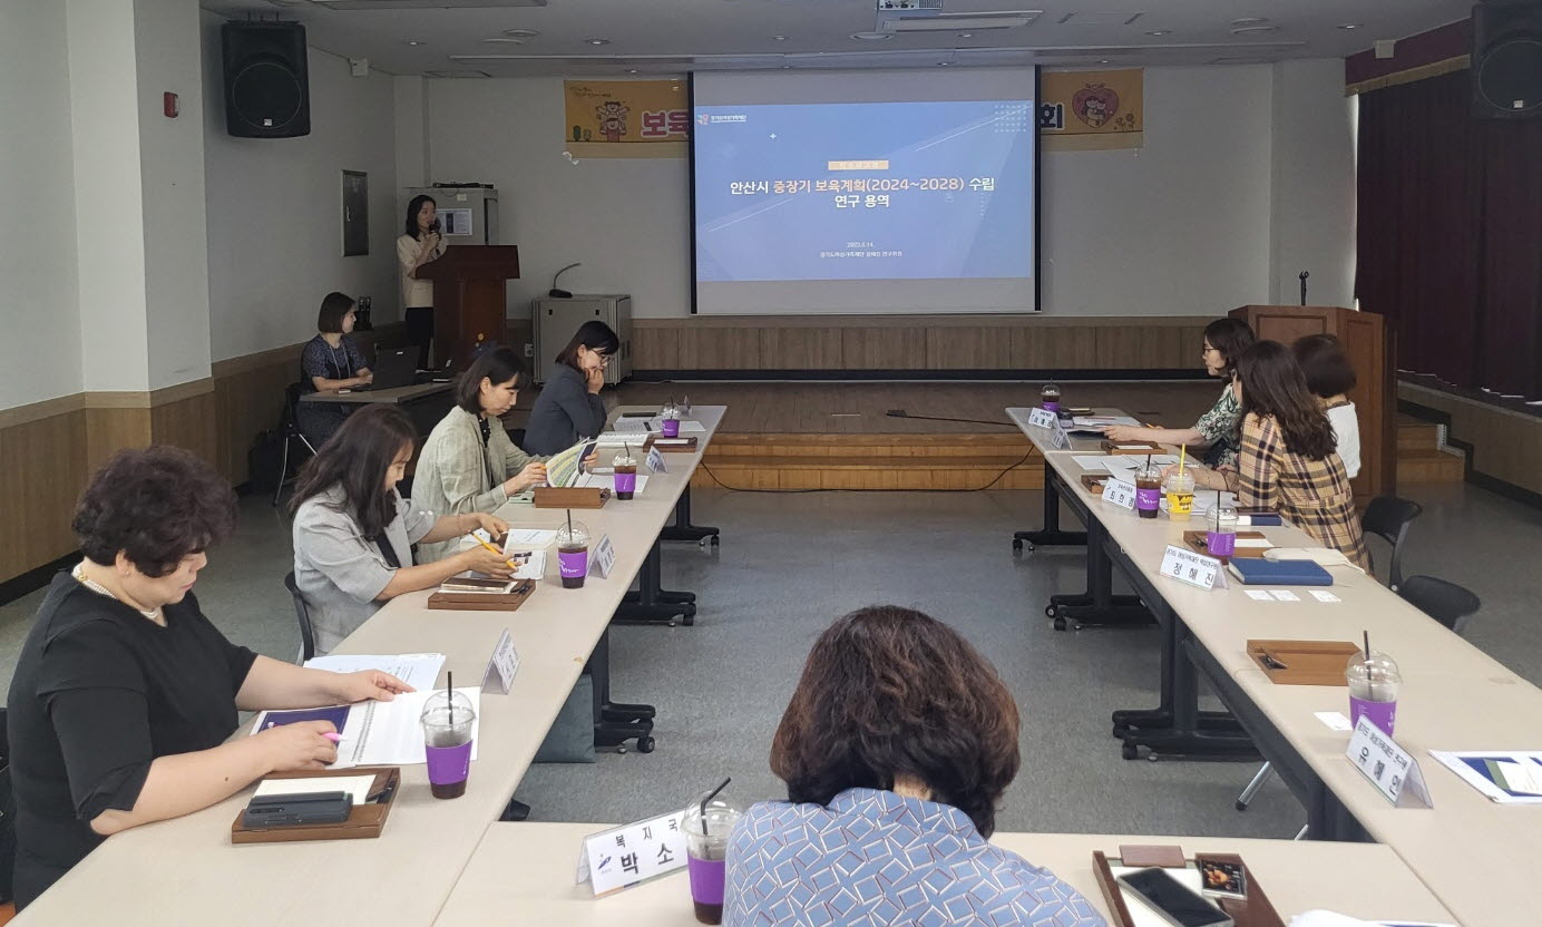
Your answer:
[[[489,827],[435,924],[695,924],[685,871],[598,899],[592,896],[589,885],[574,884],[583,838],[606,827],[609,825]],[[1093,875],[1093,850],[1113,856],[1121,844],[1178,844],[1189,855],[1240,853],[1286,922],[1291,915],[1317,907],[1359,918],[1428,922],[1453,919],[1396,853],[1375,844],[1035,833],[998,833],[992,842],[1035,865],[1050,868],[1086,895],[1104,916],[1107,905]]]

